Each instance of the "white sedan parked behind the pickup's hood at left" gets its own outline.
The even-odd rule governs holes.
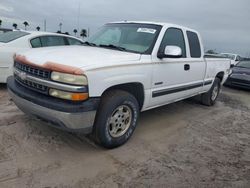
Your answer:
[[[0,83],[12,74],[13,55],[31,48],[81,45],[82,40],[63,34],[38,31],[13,31],[0,34]]]

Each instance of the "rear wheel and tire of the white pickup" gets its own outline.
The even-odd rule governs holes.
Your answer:
[[[206,106],[213,106],[220,93],[220,89],[221,89],[221,80],[219,78],[215,78],[214,83],[210,88],[210,90],[207,93],[201,95],[201,103]]]

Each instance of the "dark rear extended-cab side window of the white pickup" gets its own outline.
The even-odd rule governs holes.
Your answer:
[[[193,58],[201,57],[201,46],[198,35],[194,32],[187,31],[187,37],[188,37],[191,57]]]

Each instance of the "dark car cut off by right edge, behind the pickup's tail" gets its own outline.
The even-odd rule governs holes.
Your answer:
[[[250,60],[242,60],[236,64],[225,85],[250,89]]]

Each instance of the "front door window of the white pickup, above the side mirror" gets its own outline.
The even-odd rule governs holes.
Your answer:
[[[164,52],[166,46],[179,46],[182,50],[182,57],[186,57],[185,40],[181,29],[167,29],[160,45],[160,52]]]

